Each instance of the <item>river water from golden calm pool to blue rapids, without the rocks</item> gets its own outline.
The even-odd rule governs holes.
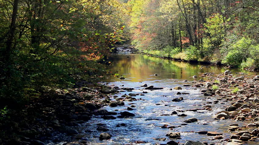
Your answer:
[[[127,57],[129,56],[129,57]],[[213,138],[211,136],[194,133],[195,131],[216,131],[223,133],[224,139],[229,138],[231,133],[227,131],[228,125],[231,123],[238,123],[239,126],[246,125],[249,122],[246,121],[234,121],[230,119],[226,120],[214,120],[213,116],[224,109],[223,106],[230,105],[230,101],[219,100],[218,104],[206,104],[206,102],[213,102],[222,96],[207,97],[201,95],[201,89],[204,87],[183,87],[183,84],[196,82],[199,79],[209,79],[199,77],[200,73],[214,72],[215,74],[223,73],[226,69],[223,66],[209,66],[199,64],[189,64],[181,61],[173,61],[168,59],[161,59],[152,56],[142,54],[130,54],[119,53],[112,55],[110,58],[112,65],[110,66],[113,72],[118,73],[120,76],[124,76],[125,79],[119,79],[118,77],[107,77],[106,82],[109,82],[109,86],[118,86],[120,88],[134,88],[133,92],[121,92],[116,94],[119,98],[124,94],[129,93],[142,93],[144,87],[140,87],[144,83],[148,86],[154,85],[154,87],[164,88],[162,90],[145,90],[148,93],[144,96],[137,95],[135,98],[138,101],[124,101],[125,106],[109,107],[105,106],[101,109],[106,109],[112,112],[128,111],[127,107],[132,104],[136,107],[135,110],[129,111],[134,113],[133,118],[116,118],[114,120],[104,120],[101,116],[93,116],[93,118],[85,124],[74,127],[80,132],[78,140],[88,140],[92,144],[109,144],[119,145],[130,143],[135,140],[143,140],[148,143],[141,145],[151,145],[155,143],[166,144],[169,140],[166,134],[169,132],[180,132],[181,139],[177,142],[184,143],[186,140],[202,141],[215,143],[216,145],[223,145],[226,142],[221,140],[208,140]],[[202,67],[204,66],[204,67]],[[202,68],[202,69],[200,69]],[[232,74],[235,72],[243,72],[245,74],[253,73],[240,69],[230,69]],[[154,76],[154,74],[158,74]],[[198,78],[192,78],[197,75]],[[188,80],[188,82],[184,82]],[[124,85],[124,86],[122,86]],[[182,90],[174,90],[176,86],[181,86]],[[176,95],[177,92],[190,93],[188,95]],[[113,95],[110,95],[111,99]],[[180,102],[171,102],[173,98],[183,97],[184,100]],[[140,99],[141,98],[141,99]],[[202,108],[202,105],[211,105],[212,111],[201,110],[197,112],[185,111],[188,109]],[[177,115],[169,115],[176,110],[185,111],[187,117],[178,117]],[[179,114],[180,112],[178,112]],[[119,115],[119,114],[118,114]],[[115,115],[117,116],[117,115]],[[149,120],[153,118],[153,120]],[[198,122],[183,124],[183,121],[188,118],[197,118]],[[156,120],[154,120],[156,119]],[[102,131],[96,130],[97,123],[106,124],[105,127],[109,129],[106,131],[112,135],[111,140],[99,140],[98,136]],[[116,127],[117,124],[125,123],[126,127]],[[168,126],[175,126],[173,130],[168,128],[161,128],[164,124]],[[207,124],[207,125],[202,125]],[[92,131],[89,131],[92,130]],[[81,138],[82,137],[82,138]],[[165,141],[154,140],[156,138],[166,138]],[[51,144],[51,143],[50,143]],[[62,144],[62,143],[59,143]],[[258,142],[248,142],[247,144],[258,144]]]

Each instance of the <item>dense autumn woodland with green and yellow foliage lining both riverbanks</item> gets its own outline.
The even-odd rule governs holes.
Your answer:
[[[109,74],[115,43],[258,70],[257,0],[0,0],[1,120],[44,92]]]

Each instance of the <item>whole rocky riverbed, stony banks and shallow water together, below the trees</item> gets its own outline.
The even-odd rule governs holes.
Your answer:
[[[97,86],[79,82],[74,89],[46,92],[45,98],[36,99],[26,111],[21,111],[21,118],[27,116],[25,120],[18,118],[1,125],[2,130],[11,128],[18,134],[15,138],[6,137],[9,142],[24,145],[259,144],[257,75],[234,69],[210,72],[212,66],[197,66],[196,72],[190,73],[188,69],[193,66],[181,63],[181,72],[176,73],[181,78],[170,79],[177,76],[169,76],[152,66],[167,62],[152,60],[139,64],[149,65],[156,72],[152,73],[135,66],[143,61],[137,55],[125,56],[125,48],[119,51],[122,53],[116,55],[123,54],[126,60],[118,65],[122,66],[119,71],[124,76]],[[137,61],[132,61],[133,58]],[[132,68],[128,63],[143,71],[139,73],[139,81],[134,81],[136,74],[129,75],[130,70],[123,69],[124,66]],[[1,142],[5,144],[6,138]]]

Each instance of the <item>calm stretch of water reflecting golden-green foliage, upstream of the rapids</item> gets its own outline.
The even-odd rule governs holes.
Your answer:
[[[110,61],[113,62],[110,69],[114,72],[118,71],[120,75],[126,76],[125,81],[130,82],[157,79],[193,80],[192,76],[199,76],[199,73],[215,72],[218,74],[226,70],[223,66],[190,64],[140,54],[113,55],[110,57]],[[230,70],[233,74],[235,72],[251,73],[242,69]],[[154,74],[158,74],[158,76],[154,76]],[[203,78],[198,77],[196,79]],[[117,77],[111,77],[107,81],[113,82],[119,81],[119,79]]]

